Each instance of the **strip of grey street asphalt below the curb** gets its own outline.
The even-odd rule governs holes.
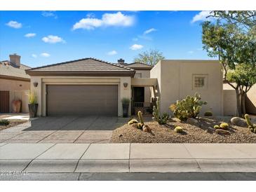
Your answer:
[[[0,181],[256,181],[256,172],[27,173],[0,174]]]

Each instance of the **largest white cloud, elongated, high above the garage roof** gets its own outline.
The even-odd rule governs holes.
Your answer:
[[[102,26],[124,26],[128,27],[133,25],[135,19],[133,16],[124,15],[120,11],[117,13],[105,13],[101,19],[91,18],[88,15],[87,18],[81,19],[73,25],[73,30],[76,29],[95,29]]]

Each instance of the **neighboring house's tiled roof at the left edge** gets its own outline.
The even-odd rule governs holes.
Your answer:
[[[13,64],[7,60],[1,61],[0,78],[30,81],[30,76],[25,73],[26,69],[30,69],[30,67],[26,66],[25,64],[20,64],[20,66],[17,66],[16,64]]]

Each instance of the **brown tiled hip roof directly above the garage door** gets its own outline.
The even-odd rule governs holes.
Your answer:
[[[50,64],[43,67],[36,67],[26,70],[26,73],[32,76],[43,75],[91,75],[91,76],[134,76],[135,71],[121,64],[114,64],[97,60],[95,58],[83,58],[81,60],[72,60]]]

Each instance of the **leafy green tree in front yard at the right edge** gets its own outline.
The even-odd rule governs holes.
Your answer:
[[[215,24],[203,22],[203,49],[207,50],[210,57],[218,57],[224,69],[224,81],[236,90],[238,116],[245,113],[245,103],[243,102],[245,93],[250,90],[251,78],[229,75],[228,70],[243,71],[243,74],[254,71],[256,64],[256,36],[253,29],[244,30],[238,25],[224,22]],[[236,70],[236,67],[238,69]],[[233,73],[234,74],[234,73]],[[250,82],[248,82],[248,80]],[[243,82],[243,84],[241,84]],[[238,84],[236,84],[238,83]],[[250,86],[246,86],[250,85]],[[243,109],[243,111],[242,111]]]

